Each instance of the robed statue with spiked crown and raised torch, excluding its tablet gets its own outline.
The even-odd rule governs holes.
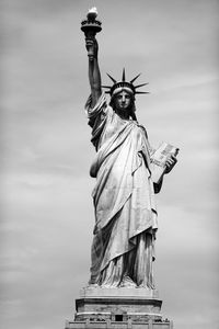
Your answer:
[[[124,69],[119,81],[108,76],[113,86],[102,91],[95,38],[101,24],[95,20],[95,10],[89,14],[81,27],[85,33],[91,86],[85,109],[92,128],[91,140],[96,149],[90,169],[96,183],[89,285],[153,290],[152,263],[158,229],[154,194],[161,190],[163,175],[159,182],[153,180],[154,149],[136,117],[135,98],[145,93],[138,89],[147,83],[136,86],[139,75],[127,81]],[[105,93],[110,94],[110,102]],[[175,163],[175,156],[170,154],[163,174]]]

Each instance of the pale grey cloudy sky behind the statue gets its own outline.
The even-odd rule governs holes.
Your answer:
[[[175,329],[218,329],[218,32],[215,0],[2,0],[0,326],[60,329],[87,285],[95,155],[80,23],[95,5],[100,67],[141,72],[150,144],[180,148],[158,195],[154,264]]]

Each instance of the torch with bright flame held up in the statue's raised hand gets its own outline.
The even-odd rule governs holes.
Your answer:
[[[97,10],[95,7],[89,10],[87,14],[87,20],[81,22],[81,30],[83,31],[85,38],[87,38],[87,47],[88,47],[88,56],[92,59],[93,54],[93,39],[95,38],[96,33],[101,32],[101,22],[96,20]],[[89,41],[90,44],[89,44]]]

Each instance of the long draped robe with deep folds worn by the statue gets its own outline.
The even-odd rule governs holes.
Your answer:
[[[127,275],[137,285],[143,282],[151,287],[150,264],[158,225],[150,171],[152,150],[146,129],[136,121],[120,118],[107,105],[104,93],[93,109],[90,97],[85,110],[96,149],[90,169],[91,177],[96,178],[90,284],[119,285]],[[138,251],[141,237],[145,249]],[[138,280],[139,275],[145,276],[143,281]]]

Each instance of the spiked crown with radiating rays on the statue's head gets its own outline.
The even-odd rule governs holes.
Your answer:
[[[122,76],[122,81],[116,81],[112,76],[110,76],[107,73],[108,78],[114,82],[113,86],[102,86],[103,88],[107,88],[110,90],[106,91],[106,93],[110,93],[111,97],[125,90],[127,92],[132,93],[134,95],[137,93],[149,93],[147,91],[137,91],[138,88],[148,84],[147,83],[141,83],[138,86],[134,86],[134,82],[136,81],[136,79],[138,79],[138,77],[140,76],[140,73],[138,76],[136,76],[134,79],[131,79],[129,82],[126,81],[126,72],[125,72],[125,68],[123,69],[123,76]]]

